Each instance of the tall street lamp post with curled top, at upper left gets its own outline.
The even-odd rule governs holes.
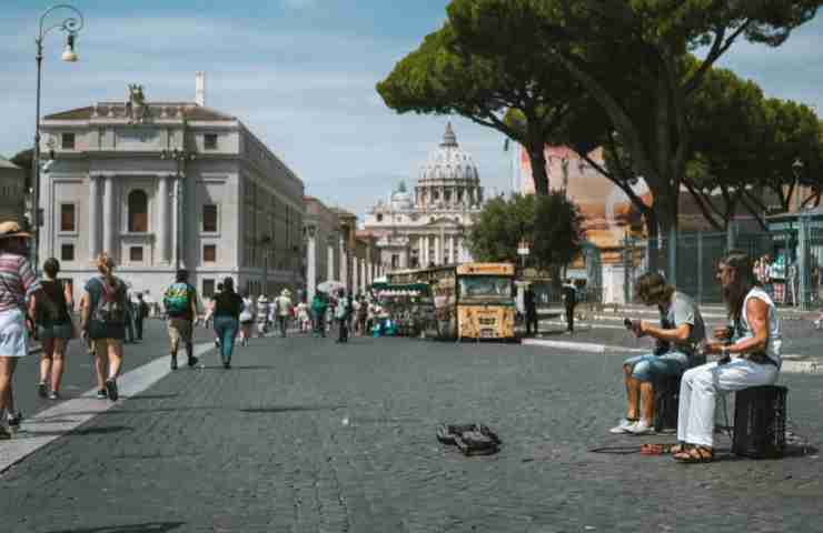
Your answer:
[[[63,19],[61,22],[47,28],[44,26],[46,18],[53,11],[60,9],[69,10],[72,14]],[[33,198],[31,202],[31,224],[32,231],[34,232],[34,239],[31,240],[31,262],[36,271],[38,269],[38,251],[40,247],[40,224],[42,223],[40,217],[40,87],[42,83],[43,39],[51,30],[65,31],[67,33],[66,49],[63,50],[61,59],[69,63],[73,63],[78,60],[77,52],[75,51],[75,41],[77,40],[77,33],[82,29],[82,13],[72,6],[61,3],[43,11],[43,14],[40,16],[40,30],[34,39],[34,44],[37,46],[37,54],[34,56],[34,60],[37,61],[37,112],[34,117],[34,149],[31,158],[32,170],[34,171]]]

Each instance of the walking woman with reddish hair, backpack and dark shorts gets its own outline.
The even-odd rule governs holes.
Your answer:
[[[115,260],[106,252],[97,257],[97,270],[100,275],[83,289],[80,330],[93,341],[97,398],[116,402],[126,339],[126,283],[115,275]]]

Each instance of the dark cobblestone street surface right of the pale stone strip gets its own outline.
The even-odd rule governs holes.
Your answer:
[[[621,361],[404,339],[261,341],[232,370],[207,359],[170,374],[7,471],[2,531],[823,531],[816,452],[737,460],[721,441],[717,462],[691,466],[589,452],[639,445],[606,433],[623,405]],[[784,381],[793,430],[819,441],[821,378]],[[442,421],[488,423],[504,449],[466,459],[435,440]],[[672,438],[643,442],[655,440]]]

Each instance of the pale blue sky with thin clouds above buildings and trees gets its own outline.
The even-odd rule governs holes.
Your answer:
[[[31,145],[34,37],[52,2],[3,0],[0,154]],[[447,121],[478,167],[487,195],[508,192],[500,133],[458,117],[397,114],[375,90],[446,19],[447,0],[75,0],[86,19],[80,61],[65,37],[44,42],[42,113],[126,99],[194,101],[206,72],[208,107],[238,117],[304,181],[306,193],[363,217],[403,180],[412,187]],[[48,19],[62,20],[61,12]],[[777,49],[736,43],[720,61],[766,95],[823,110],[823,17]]]

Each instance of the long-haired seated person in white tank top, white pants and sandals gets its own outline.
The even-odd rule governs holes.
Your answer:
[[[713,431],[715,398],[718,393],[750,386],[771,385],[777,381],[781,368],[780,319],[774,302],[753,272],[752,259],[744,252],[732,251],[717,268],[723,299],[734,325],[714,331],[706,353],[720,353],[723,359],[697,366],[683,374],[681,381],[677,440],[674,459],[683,463],[707,462],[714,459]],[[728,345],[726,340],[733,340]]]

